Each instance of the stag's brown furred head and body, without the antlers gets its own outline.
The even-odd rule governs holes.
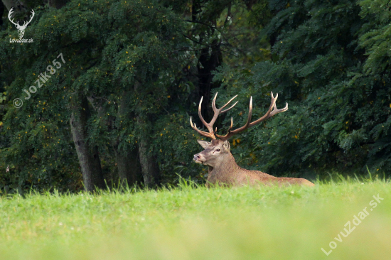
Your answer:
[[[307,185],[314,186],[303,178],[277,178],[259,170],[246,170],[235,162],[228,141],[213,140],[211,143],[198,141],[204,151],[195,154],[196,163],[209,167],[208,183],[217,185]],[[218,151],[220,150],[220,151]],[[207,184],[208,185],[208,184]]]

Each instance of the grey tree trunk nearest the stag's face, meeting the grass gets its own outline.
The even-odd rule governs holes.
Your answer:
[[[137,123],[139,124],[140,129],[144,129],[143,134],[139,135],[138,145],[139,145],[139,158],[141,164],[141,173],[144,178],[144,185],[154,186],[160,184],[160,173],[159,166],[156,163],[156,158],[151,152],[151,141],[149,138],[149,133],[146,131],[147,127],[145,122],[141,117],[137,117]]]

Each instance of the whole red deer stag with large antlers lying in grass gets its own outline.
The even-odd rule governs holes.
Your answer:
[[[309,180],[303,178],[277,178],[267,173],[262,173],[259,170],[246,170],[244,168],[241,168],[237,165],[237,163],[235,162],[235,158],[230,152],[230,143],[228,142],[228,139],[230,139],[231,136],[238,134],[251,126],[255,126],[260,122],[269,119],[270,117],[273,117],[275,114],[285,112],[286,110],[288,110],[288,103],[286,103],[286,107],[284,107],[283,109],[277,109],[276,101],[278,94],[276,95],[276,97],[273,97],[272,92],[272,102],[270,103],[270,107],[267,113],[264,114],[263,117],[251,122],[252,97],[250,97],[250,108],[247,117],[247,123],[238,129],[232,130],[233,122],[231,118],[231,126],[230,129],[228,129],[228,133],[225,136],[220,136],[216,134],[217,128],[215,129],[215,131],[213,131],[213,124],[215,123],[219,114],[223,114],[228,110],[232,109],[232,107],[235,107],[235,104],[237,104],[237,102],[233,104],[232,107],[223,110],[225,107],[227,107],[228,104],[230,104],[230,102],[232,102],[233,99],[235,99],[235,97],[237,97],[237,95],[230,99],[230,101],[228,101],[220,109],[216,107],[215,103],[217,96],[218,94],[216,93],[215,97],[213,98],[212,108],[214,116],[209,124],[203,119],[201,115],[201,104],[203,102],[202,97],[198,106],[198,116],[200,117],[200,120],[203,122],[209,132],[200,131],[200,129],[198,129],[195,124],[193,124],[190,118],[191,127],[195,131],[197,131],[198,134],[212,139],[211,142],[197,140],[198,143],[200,143],[200,146],[203,146],[205,150],[195,154],[194,156],[194,161],[196,163],[201,163],[209,167],[207,180],[208,183],[218,185],[257,185],[263,183],[265,185],[277,184],[314,186],[314,183],[311,183]],[[218,139],[216,139],[216,137],[218,137]]]

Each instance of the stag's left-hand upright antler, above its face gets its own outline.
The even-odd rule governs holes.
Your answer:
[[[204,126],[206,126],[206,128],[209,131],[209,133],[207,133],[205,131],[199,130],[197,128],[197,126],[195,126],[195,124],[193,124],[193,121],[191,121],[191,117],[190,117],[190,125],[191,125],[191,127],[195,131],[197,131],[198,134],[200,134],[202,136],[205,136],[205,137],[208,137],[210,139],[216,139],[215,131],[213,131],[213,124],[215,124],[216,119],[218,119],[218,115],[219,114],[223,114],[223,113],[229,111],[230,109],[232,109],[232,107],[235,107],[235,104],[237,104],[237,102],[236,102],[230,108],[223,110],[225,107],[227,107],[228,104],[230,104],[230,102],[232,102],[233,99],[235,99],[235,97],[237,97],[237,95],[236,95],[235,97],[232,97],[232,99],[230,99],[230,101],[225,103],[225,105],[223,107],[220,107],[220,109],[218,109],[216,107],[216,97],[218,97],[218,93],[217,92],[216,92],[215,97],[213,98],[213,102],[212,102],[212,108],[213,108],[214,115],[213,115],[212,120],[210,120],[209,124],[205,121],[205,119],[203,119],[203,116],[201,114],[201,104],[203,102],[203,97],[201,97],[200,104],[198,104],[198,117],[200,117],[200,120],[203,122]]]

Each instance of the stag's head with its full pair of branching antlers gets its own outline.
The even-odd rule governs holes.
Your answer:
[[[205,127],[208,129],[209,132],[199,130],[197,128],[197,126],[195,126],[195,124],[193,124],[193,121],[191,121],[191,118],[190,118],[191,127],[195,131],[197,131],[198,134],[200,134],[201,136],[205,136],[205,137],[212,139],[211,142],[197,140],[198,143],[200,143],[200,146],[203,146],[203,148],[205,150],[200,153],[195,154],[194,161],[195,161],[195,163],[202,163],[203,165],[207,165],[207,166],[211,166],[211,167],[219,166],[221,163],[224,163],[228,157],[230,157],[229,156],[230,155],[230,143],[228,141],[228,139],[230,139],[230,137],[244,131],[245,129],[247,129],[251,126],[255,126],[256,124],[259,124],[260,122],[262,122],[266,119],[269,119],[270,117],[273,117],[275,114],[278,114],[278,113],[281,113],[281,112],[288,110],[288,103],[286,103],[286,107],[284,107],[283,109],[277,109],[276,101],[278,98],[278,94],[276,95],[276,97],[274,97],[273,92],[272,92],[272,102],[270,103],[269,110],[266,112],[266,114],[264,114],[263,117],[251,122],[252,97],[250,97],[250,108],[249,108],[249,113],[248,113],[248,117],[247,117],[247,123],[238,129],[232,130],[233,121],[231,118],[231,126],[228,129],[228,133],[225,136],[220,136],[220,135],[216,134],[216,132],[218,130],[217,128],[213,131],[213,124],[215,124],[215,121],[216,121],[216,119],[218,119],[219,114],[223,114],[223,113],[229,111],[230,109],[232,109],[232,107],[235,107],[235,104],[237,104],[237,102],[235,104],[233,104],[230,108],[223,110],[225,107],[227,107],[228,104],[230,104],[230,102],[232,102],[233,99],[235,99],[235,97],[237,97],[237,95],[235,97],[232,97],[232,99],[230,99],[230,101],[228,101],[220,109],[218,109],[216,107],[216,103],[215,103],[217,96],[218,96],[218,93],[216,93],[215,97],[213,98],[212,108],[213,108],[214,115],[213,115],[212,120],[209,123],[207,123],[201,115],[201,104],[203,102],[202,97],[200,100],[200,104],[198,105],[198,116],[200,117],[200,120],[203,122],[203,124],[205,125]]]

